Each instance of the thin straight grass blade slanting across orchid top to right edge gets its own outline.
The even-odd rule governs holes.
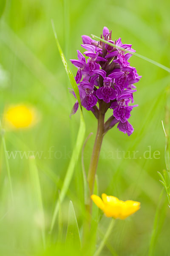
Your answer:
[[[139,57],[139,58],[141,58],[141,59],[143,59],[143,60],[145,60],[145,61],[147,61],[147,62],[150,62],[150,63],[152,63],[153,65],[156,65],[157,67],[160,67],[161,69],[166,70],[167,72],[170,73],[170,68],[169,68],[169,67],[166,67],[166,66],[160,64],[160,63],[157,62],[157,61],[153,61],[152,59],[147,58],[147,57],[145,57],[145,56],[143,56],[143,55],[141,55],[141,54],[139,54],[139,53],[137,53],[137,52],[127,51],[127,50],[124,49],[123,47],[119,47],[119,46],[117,46],[116,44],[110,43],[110,42],[106,41],[105,39],[99,38],[99,37],[96,36],[96,35],[91,34],[91,36],[92,36],[94,39],[98,39],[99,41],[102,41],[102,42],[105,43],[105,44],[108,44],[108,45],[110,45],[110,46],[116,47],[116,48],[118,48],[118,49],[120,49],[120,50],[122,50],[122,51],[124,51],[124,52],[128,52],[128,53],[130,53],[130,54],[132,54],[132,55],[134,55],[134,56],[136,56],[136,57]]]

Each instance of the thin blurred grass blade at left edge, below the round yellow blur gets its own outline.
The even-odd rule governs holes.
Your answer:
[[[11,201],[12,201],[12,204],[14,204],[14,194],[13,194],[12,182],[11,182],[11,172],[10,172],[9,161],[8,161],[7,150],[6,150],[6,141],[5,141],[5,137],[4,137],[5,131],[2,128],[1,120],[0,120],[0,133],[1,133],[1,137],[2,137],[3,151],[4,151],[4,155],[5,155],[5,160],[6,160],[6,169],[7,169],[7,175],[8,175],[9,190],[10,190],[10,194],[11,194]]]

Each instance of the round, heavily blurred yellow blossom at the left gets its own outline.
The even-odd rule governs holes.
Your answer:
[[[5,111],[5,123],[10,128],[28,128],[36,122],[37,111],[27,105],[10,105]]]

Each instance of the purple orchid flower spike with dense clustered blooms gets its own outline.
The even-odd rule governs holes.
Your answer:
[[[77,51],[78,59],[71,59],[71,63],[77,67],[77,82],[82,106],[91,111],[99,119],[100,113],[105,116],[106,111],[113,114],[105,122],[104,132],[111,129],[117,123],[119,131],[130,136],[133,127],[128,122],[132,110],[137,105],[133,103],[133,93],[136,92],[136,84],[141,76],[136,68],[130,66],[129,52],[119,49],[122,47],[130,52],[135,52],[131,44],[123,44],[121,38],[112,40],[112,32],[107,27],[103,28],[101,38],[115,44],[110,46],[101,41],[92,40],[87,35],[82,35],[81,45],[85,52]],[[85,58],[85,56],[86,58]],[[72,93],[74,96],[75,94]],[[78,102],[75,103],[71,115],[77,112]],[[104,121],[103,121],[104,123]]]

